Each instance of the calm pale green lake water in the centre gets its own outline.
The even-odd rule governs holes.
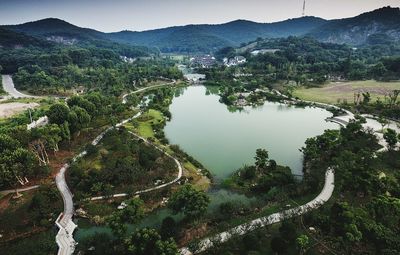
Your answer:
[[[164,129],[166,137],[200,161],[217,180],[253,164],[258,148],[265,148],[271,159],[301,175],[299,149],[305,140],[338,128],[325,121],[332,114],[320,108],[266,102],[232,112],[204,86],[188,87],[178,94],[170,106],[172,119]]]

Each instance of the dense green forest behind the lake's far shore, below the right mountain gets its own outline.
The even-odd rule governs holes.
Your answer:
[[[246,47],[243,47],[246,49]],[[257,49],[273,52],[252,55]],[[239,49],[240,50],[240,49]],[[242,51],[242,50],[240,50]],[[216,53],[219,59],[233,57],[234,48],[224,48]],[[255,83],[272,83],[293,80],[301,85],[322,84],[328,79],[349,80],[395,80],[400,74],[400,44],[376,44],[361,48],[348,45],[321,43],[311,37],[288,37],[284,39],[258,40],[242,53],[247,63],[242,67],[219,67],[205,70],[207,80],[233,80],[235,74],[251,74],[249,86]],[[242,78],[245,79],[245,78]],[[229,80],[228,80],[229,81]]]

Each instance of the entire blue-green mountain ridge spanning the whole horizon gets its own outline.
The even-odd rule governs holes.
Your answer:
[[[353,18],[324,20],[301,17],[274,23],[236,20],[218,25],[187,25],[143,32],[103,33],[49,18],[4,28],[48,40],[71,42],[109,40],[131,45],[157,47],[161,52],[212,52],[239,46],[257,38],[308,35],[320,41],[361,45],[369,41],[400,40],[400,9],[384,7]]]

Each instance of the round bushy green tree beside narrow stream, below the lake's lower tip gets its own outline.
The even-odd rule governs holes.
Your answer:
[[[207,211],[210,198],[204,191],[199,191],[191,185],[184,185],[172,194],[168,206],[173,212],[183,212],[185,216],[198,218]]]

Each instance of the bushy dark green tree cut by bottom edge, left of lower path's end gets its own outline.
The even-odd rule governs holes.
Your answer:
[[[160,234],[154,229],[144,228],[136,231],[125,240],[125,248],[133,255],[178,255],[178,247],[170,238],[161,240]]]

